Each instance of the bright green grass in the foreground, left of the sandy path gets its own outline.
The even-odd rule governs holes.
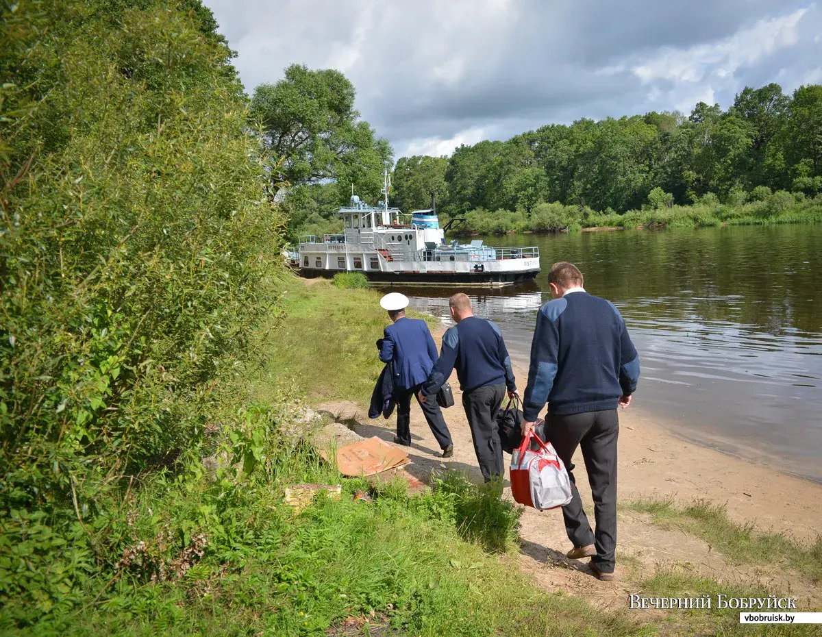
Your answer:
[[[161,584],[121,579],[102,602],[87,600],[63,635],[325,635],[345,621],[381,618],[403,635],[652,635],[627,616],[596,612],[580,599],[536,589],[515,561],[461,537],[465,513],[446,488],[409,497],[401,482],[353,501],[362,480],[343,478],[311,450],[280,450],[277,478],[225,502],[235,533],[212,538],[187,574]],[[340,483],[299,515],[282,505],[292,482]],[[459,485],[459,478],[444,483]],[[152,493],[144,516],[208,506],[206,482]],[[459,491],[458,487],[455,487]],[[482,499],[481,499],[482,500]],[[490,520],[490,518],[488,518]],[[479,528],[479,527],[477,527]],[[48,631],[46,631],[48,632]]]

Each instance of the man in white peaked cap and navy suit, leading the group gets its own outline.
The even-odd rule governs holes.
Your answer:
[[[377,342],[380,347],[380,360],[394,363],[394,388],[397,401],[397,435],[394,441],[399,445],[411,445],[411,397],[417,396],[420,387],[427,379],[436,362],[436,344],[425,321],[410,319],[405,316],[409,299],[404,294],[392,292],[386,294],[380,305],[388,311],[393,325],[386,327],[384,336]],[[425,419],[437,443],[442,450],[443,458],[454,455],[454,444],[448,431],[445,418],[442,418],[436,395],[420,400]]]

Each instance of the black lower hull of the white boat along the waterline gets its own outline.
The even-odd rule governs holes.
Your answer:
[[[349,270],[350,271],[350,270]],[[317,277],[332,278],[339,270],[326,270],[324,268],[305,268],[299,270],[300,275],[307,279]],[[387,283],[392,285],[476,285],[483,287],[497,287],[502,285],[513,285],[533,281],[539,274],[539,268],[532,270],[507,270],[507,271],[484,271],[484,272],[455,272],[454,270],[428,270],[427,272],[414,272],[399,270],[396,272],[382,272],[380,270],[366,270],[368,280],[375,283]]]

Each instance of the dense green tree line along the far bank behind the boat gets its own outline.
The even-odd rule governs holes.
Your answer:
[[[349,188],[343,180],[293,188],[285,198],[293,227],[334,229]],[[467,215],[464,232],[501,233],[816,220],[820,192],[822,85],[785,95],[772,83],[747,87],[727,110],[700,102],[690,115],[580,119],[460,145],[450,157],[401,157],[391,203],[425,209],[434,195],[438,212]]]

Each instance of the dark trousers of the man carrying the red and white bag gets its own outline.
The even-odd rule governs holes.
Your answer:
[[[575,547],[595,545],[597,554],[593,556],[593,562],[603,573],[613,573],[614,553],[617,551],[617,409],[568,416],[548,413],[545,429],[548,441],[565,463],[570,477],[573,497],[569,504],[562,507],[568,538]],[[570,461],[577,446],[582,450],[585,469],[588,469],[596,533],[591,531],[582,508],[574,479],[574,465]]]

